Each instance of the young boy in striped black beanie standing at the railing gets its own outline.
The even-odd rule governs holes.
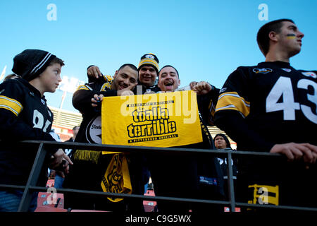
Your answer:
[[[49,52],[26,49],[13,59],[12,71],[21,78],[0,84],[0,184],[25,185],[37,148],[13,145],[16,141],[55,141],[49,134],[53,114],[46,105],[44,93],[54,93],[61,82],[63,61]],[[70,164],[62,149],[49,149],[49,167],[61,164],[63,158]],[[47,167],[47,166],[46,166]],[[45,186],[46,171],[40,174],[37,185]],[[34,194],[29,210],[35,210]],[[1,190],[0,211],[17,211],[22,190]]]

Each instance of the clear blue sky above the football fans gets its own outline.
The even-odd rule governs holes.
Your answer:
[[[56,20],[47,19],[49,4]],[[268,20],[259,20],[260,4],[268,6]],[[292,66],[316,70],[316,8],[317,0],[0,1],[0,70],[12,73],[13,57],[24,49],[44,49],[65,61],[61,76],[87,81],[91,64],[113,75],[152,52],[161,67],[178,69],[181,86],[209,81],[220,88],[237,66],[264,61],[256,32],[278,18],[293,19],[305,35]],[[59,107],[62,95],[46,99]],[[71,97],[63,109],[75,111]]]

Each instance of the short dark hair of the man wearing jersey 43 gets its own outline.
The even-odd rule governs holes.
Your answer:
[[[268,34],[271,31],[279,33],[280,28],[282,28],[282,22],[284,21],[294,23],[294,21],[290,19],[273,20],[266,23],[259,29],[258,34],[256,35],[256,42],[258,42],[259,48],[261,49],[261,52],[264,54],[264,56],[268,54],[268,49],[270,49],[270,38],[268,37]]]

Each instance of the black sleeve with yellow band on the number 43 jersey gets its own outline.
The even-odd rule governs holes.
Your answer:
[[[247,104],[251,98],[250,83],[251,77],[244,67],[238,68],[228,76],[219,93],[215,124],[237,142],[239,149],[239,144],[243,143],[242,148],[269,152],[274,144],[265,141],[246,121],[249,114]]]

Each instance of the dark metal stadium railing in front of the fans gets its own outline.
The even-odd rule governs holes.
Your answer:
[[[18,212],[26,212],[30,206],[32,192],[34,191],[46,191],[47,187],[36,186],[37,180],[39,179],[39,174],[42,170],[44,159],[46,156],[45,148],[63,148],[63,149],[79,149],[79,150],[97,150],[97,151],[118,151],[118,152],[129,152],[129,153],[180,153],[180,154],[207,154],[214,155],[218,157],[227,157],[228,162],[232,161],[232,155],[237,155],[237,157],[244,156],[270,156],[270,157],[282,157],[278,153],[260,153],[260,152],[250,152],[250,151],[239,151],[239,150],[206,150],[206,149],[189,149],[189,148],[155,148],[155,147],[141,147],[141,146],[128,146],[128,145],[102,145],[102,144],[87,144],[87,143],[73,143],[73,142],[50,142],[50,141],[22,141],[25,145],[38,145],[37,154],[35,156],[35,161],[32,165],[30,175],[25,186],[21,185],[11,185],[11,184],[0,184],[0,189],[21,189],[23,190],[23,197],[20,201],[20,206]],[[1,145],[1,141],[0,141]],[[1,151],[1,150],[0,150]],[[102,191],[84,191],[77,189],[56,189],[58,193],[75,193],[84,194],[89,196],[106,196],[114,198],[139,198],[143,201],[174,201],[174,202],[191,202],[191,203],[209,203],[211,205],[221,205],[230,206],[232,212],[235,211],[237,206],[245,208],[273,208],[273,209],[285,209],[285,210],[302,210],[304,212],[317,212],[317,208],[309,207],[298,207],[298,206],[273,206],[273,205],[261,205],[261,204],[249,204],[240,203],[235,200],[234,191],[234,181],[232,165],[228,164],[228,201],[218,201],[218,200],[205,200],[205,199],[193,199],[193,198],[175,198],[167,196],[144,196],[136,194],[115,194],[107,193]]]

